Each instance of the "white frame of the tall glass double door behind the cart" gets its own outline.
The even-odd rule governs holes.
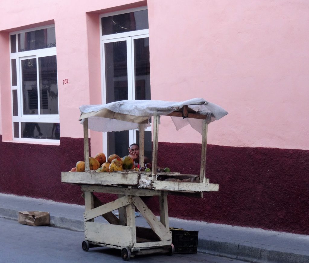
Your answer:
[[[126,9],[123,11],[116,11],[112,13],[102,14],[99,16],[99,33],[100,33],[100,55],[101,55],[101,87],[102,87],[102,103],[106,103],[106,79],[105,79],[105,53],[104,53],[104,44],[118,41],[127,41],[127,61],[128,61],[128,100],[135,99],[135,83],[134,83],[134,49],[133,49],[133,41],[138,38],[146,38],[149,37],[149,29],[135,30],[124,33],[117,33],[111,35],[102,36],[102,17],[112,16],[112,15],[120,15],[126,14],[130,12],[147,10],[147,7],[138,7],[132,9]],[[131,40],[131,41],[129,41]],[[132,63],[130,64],[129,61]],[[129,145],[136,142],[136,131],[138,129],[129,130]],[[151,126],[145,129],[146,131],[151,131]],[[128,145],[128,147],[129,147]],[[108,152],[108,143],[107,143],[107,132],[103,133],[103,152]]]

